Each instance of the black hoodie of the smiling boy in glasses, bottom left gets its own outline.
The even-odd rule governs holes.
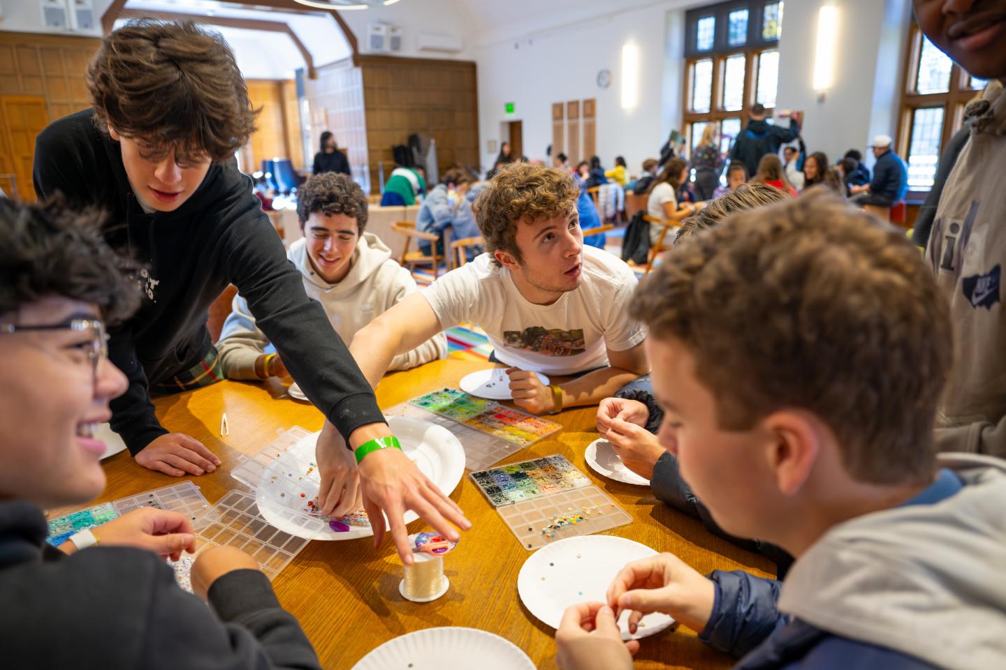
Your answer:
[[[207,608],[154,553],[93,546],[67,556],[45,542],[26,500],[0,502],[3,667],[102,670],[319,668],[266,576],[239,570],[209,589]],[[215,613],[215,616],[214,616]]]

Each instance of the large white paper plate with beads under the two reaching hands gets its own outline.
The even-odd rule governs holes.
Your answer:
[[[420,471],[450,495],[465,472],[465,450],[450,431],[423,419],[390,417],[391,433],[401,443],[401,450]],[[280,530],[308,539],[357,539],[373,535],[363,510],[333,518],[318,511],[321,478],[315,457],[318,433],[298,440],[286,449],[266,454],[266,461],[256,490],[256,503],[262,517]],[[418,518],[407,511],[405,523]],[[386,525],[385,519],[385,525]]]

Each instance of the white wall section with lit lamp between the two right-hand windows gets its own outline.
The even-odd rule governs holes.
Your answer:
[[[849,149],[869,156],[877,134],[894,137],[900,97],[907,0],[834,0],[839,55],[823,100],[812,88],[818,11],[823,0],[787,2],[780,42],[777,108],[803,109],[808,151],[834,163]],[[872,161],[872,157],[869,157]]]

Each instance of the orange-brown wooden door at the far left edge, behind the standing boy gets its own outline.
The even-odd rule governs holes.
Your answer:
[[[35,138],[48,123],[44,97],[0,95],[0,142],[3,143],[0,172],[15,175],[17,195],[24,202],[35,201],[35,189],[31,184]]]

